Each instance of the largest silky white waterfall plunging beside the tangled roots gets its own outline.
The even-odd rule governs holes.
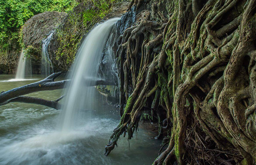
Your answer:
[[[90,118],[90,113],[83,111],[92,110],[95,100],[95,87],[88,87],[85,78],[97,78],[98,67],[103,49],[111,29],[119,18],[109,19],[97,25],[83,41],[76,55],[75,63],[71,67],[68,78],[71,83],[67,87],[64,105],[62,107],[61,129],[68,132],[79,125],[79,121]],[[97,104],[97,103],[95,103]]]

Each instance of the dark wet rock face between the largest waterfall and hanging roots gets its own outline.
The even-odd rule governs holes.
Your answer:
[[[106,47],[102,54],[102,59],[99,66],[99,75],[102,79],[112,80],[117,86],[106,86],[99,85],[97,90],[105,95],[107,99],[111,102],[117,103],[119,101],[119,82],[118,82],[118,65],[119,60],[116,57],[116,52],[119,48],[119,37],[123,35],[123,32],[132,26],[135,22],[136,12],[135,7],[133,7],[129,12],[123,14],[121,19],[117,21],[116,27],[112,30],[109,36]]]

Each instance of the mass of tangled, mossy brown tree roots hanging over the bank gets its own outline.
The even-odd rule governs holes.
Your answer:
[[[119,45],[122,117],[106,155],[147,106],[168,131],[154,165],[255,163],[256,1],[166,3],[165,15],[152,5],[162,20],[137,22]]]

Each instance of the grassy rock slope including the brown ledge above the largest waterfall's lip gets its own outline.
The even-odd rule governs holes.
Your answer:
[[[52,41],[49,44],[48,52],[55,71],[68,71],[88,31],[101,21],[122,16],[128,5],[129,2],[125,0],[114,3],[103,19],[97,17],[91,21],[85,21],[85,14],[87,11],[97,11],[97,7],[91,1],[81,2],[76,6],[52,35]]]

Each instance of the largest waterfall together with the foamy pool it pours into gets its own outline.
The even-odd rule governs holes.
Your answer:
[[[124,20],[129,20],[132,15],[127,16],[122,17],[116,23],[116,27],[126,25],[123,24],[127,22]],[[143,129],[140,130],[136,140],[130,141],[133,146],[131,149],[127,147],[126,138],[121,138],[119,140],[121,147],[113,151],[114,155],[104,156],[102,150],[108,141],[106,137],[111,136],[111,131],[118,125],[120,116],[116,107],[107,104],[99,93],[94,93],[94,87],[86,87],[88,84],[84,82],[88,77],[97,78],[103,47],[105,47],[106,56],[113,55],[113,52],[108,49],[113,49],[115,52],[116,48],[112,47],[112,41],[107,39],[111,40],[112,32],[117,33],[116,39],[121,35],[117,28],[112,29],[117,20],[111,19],[98,25],[83,41],[69,73],[68,78],[72,82],[68,85],[66,98],[62,100],[64,111],[54,111],[52,108],[33,104],[13,104],[7,110],[0,109],[0,117],[2,117],[0,165],[120,165],[120,163],[145,165],[152,163],[154,160],[152,158],[157,156],[160,144],[150,138],[151,135],[143,132]],[[109,46],[106,42],[109,42]],[[109,57],[109,61],[111,61],[109,67],[103,69],[112,74],[113,59]],[[5,75],[0,75],[0,79],[1,76]],[[106,75],[107,80],[110,80],[109,77],[111,76]],[[105,77],[102,76],[102,78]],[[29,82],[20,83],[25,85]],[[16,82],[0,81],[0,91],[10,88],[10,85],[17,87]],[[57,99],[61,91],[44,91],[34,94],[35,97],[43,95],[48,99]],[[93,107],[93,103],[97,108],[90,108]],[[82,111],[84,109],[88,111]],[[89,110],[95,115],[83,117],[82,114],[88,114]],[[62,113],[60,131],[56,130],[56,117],[59,113]],[[123,161],[123,158],[126,161]]]

